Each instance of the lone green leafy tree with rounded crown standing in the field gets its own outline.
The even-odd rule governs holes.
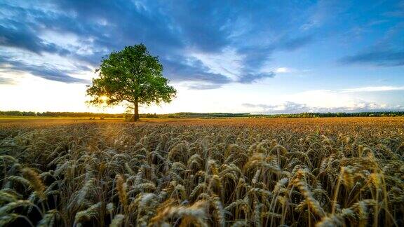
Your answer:
[[[171,102],[177,91],[163,77],[163,65],[149,54],[146,46],[126,46],[102,59],[99,78],[87,85],[89,104],[115,106],[126,103],[133,109],[133,121],[139,121],[139,105]]]

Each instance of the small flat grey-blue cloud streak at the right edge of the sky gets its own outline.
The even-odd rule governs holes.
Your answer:
[[[374,50],[339,60],[342,64],[374,64],[382,67],[403,66],[404,50]]]

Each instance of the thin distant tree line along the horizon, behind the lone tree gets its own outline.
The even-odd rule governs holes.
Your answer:
[[[33,112],[0,111],[0,116],[50,116],[50,117],[88,117],[88,118],[125,118],[127,114],[96,114],[88,112]],[[247,114],[247,113],[175,113],[140,114],[141,118],[327,118],[352,116],[404,116],[404,111],[378,111],[358,113],[301,113],[301,114]]]

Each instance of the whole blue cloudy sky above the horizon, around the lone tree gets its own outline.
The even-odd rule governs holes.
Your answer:
[[[93,111],[102,57],[144,43],[148,113],[404,111],[404,1],[0,1],[0,111]]]

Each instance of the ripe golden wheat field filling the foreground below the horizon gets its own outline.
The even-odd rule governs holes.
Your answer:
[[[404,118],[0,121],[0,226],[404,226]]]

